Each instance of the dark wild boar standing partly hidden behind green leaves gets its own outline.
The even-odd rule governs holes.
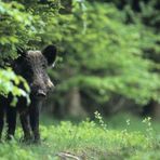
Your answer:
[[[40,139],[39,133],[39,108],[42,104],[43,97],[53,88],[48,74],[46,67],[52,65],[55,61],[56,49],[49,45],[43,52],[28,51],[21,53],[13,63],[13,69],[17,75],[21,75],[28,82],[31,93],[31,103],[27,106],[24,97],[18,98],[16,107],[11,107],[12,95],[8,98],[0,96],[0,138],[4,124],[4,115],[6,114],[8,132],[6,138],[10,139],[14,136],[16,128],[16,112],[19,112],[19,119],[24,131],[24,139]],[[32,134],[31,134],[32,133]]]

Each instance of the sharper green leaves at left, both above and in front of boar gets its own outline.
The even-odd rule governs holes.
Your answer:
[[[52,3],[57,3],[56,1]],[[50,3],[50,4],[52,4]],[[25,4],[25,5],[24,5]],[[44,32],[46,22],[44,17],[50,15],[50,12],[54,11],[55,8],[48,10],[49,4],[44,6],[38,4],[38,1],[31,1],[32,9],[28,1],[0,1],[0,63],[1,66],[8,65],[11,59],[16,58],[17,49],[36,49],[42,41],[41,36]],[[42,8],[43,6],[43,8]],[[43,9],[43,10],[42,10]],[[45,10],[45,12],[43,12]],[[46,15],[48,13],[48,15]],[[51,14],[52,16],[54,15]],[[40,36],[41,35],[41,36]],[[39,43],[39,45],[37,45]],[[18,89],[18,84],[24,83],[24,89]],[[16,102],[16,96],[26,96],[29,101],[27,92],[29,91],[26,81],[16,77],[11,70],[0,70],[0,93],[8,95],[12,92],[14,95],[13,104]]]

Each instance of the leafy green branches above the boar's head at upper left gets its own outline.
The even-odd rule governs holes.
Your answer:
[[[50,5],[42,5],[38,1],[0,1],[0,59],[14,58],[19,46],[40,46],[49,18],[54,16],[58,9],[58,1],[51,1]]]

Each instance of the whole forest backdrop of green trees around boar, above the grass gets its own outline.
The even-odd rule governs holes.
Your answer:
[[[55,89],[45,115],[93,119],[97,110],[159,119],[159,0],[1,0],[0,63],[15,58],[17,48],[53,43]]]

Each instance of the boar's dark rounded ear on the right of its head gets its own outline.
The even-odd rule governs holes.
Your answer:
[[[42,54],[46,58],[49,66],[51,66],[56,58],[56,48],[54,45],[49,45],[42,51]]]

